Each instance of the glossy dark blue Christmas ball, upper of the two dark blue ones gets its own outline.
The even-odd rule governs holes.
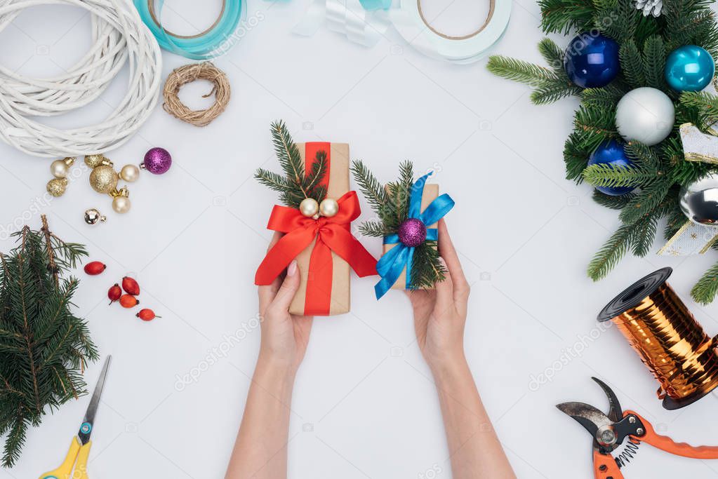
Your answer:
[[[566,49],[564,70],[579,87],[605,87],[620,71],[618,44],[601,34],[579,34]]]

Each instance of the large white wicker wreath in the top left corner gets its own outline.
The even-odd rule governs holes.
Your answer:
[[[162,70],[157,40],[134,6],[123,0],[0,0],[0,32],[23,9],[50,4],[90,11],[93,46],[77,64],[54,78],[30,78],[0,65],[0,138],[25,153],[52,158],[116,148],[137,131],[157,103]],[[126,62],[130,70],[127,93],[101,123],[62,130],[34,118],[87,105],[103,93]]]

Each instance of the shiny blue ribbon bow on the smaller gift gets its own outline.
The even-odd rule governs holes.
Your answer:
[[[434,224],[442,219],[453,207],[454,200],[448,194],[442,194],[429,204],[424,212],[421,212],[421,198],[424,195],[424,184],[431,173],[421,176],[414,186],[411,186],[411,196],[409,197],[409,218],[419,219],[424,224]],[[439,240],[439,230],[436,228],[426,228],[426,241]],[[376,299],[381,298],[391,289],[396,280],[398,280],[401,272],[406,267],[406,285],[411,285],[411,265],[414,262],[414,247],[406,246],[399,240],[398,234],[389,234],[384,237],[385,245],[396,245],[388,250],[376,264],[376,270],[381,276],[381,280],[374,286]]]

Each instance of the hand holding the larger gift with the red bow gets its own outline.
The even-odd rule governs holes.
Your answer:
[[[269,248],[281,238],[274,233]],[[289,304],[299,289],[299,270],[294,260],[286,268],[284,278],[276,278],[271,285],[260,286],[259,314],[261,316],[261,347],[258,363],[287,369],[295,374],[304,359],[312,329],[312,316],[289,314]]]

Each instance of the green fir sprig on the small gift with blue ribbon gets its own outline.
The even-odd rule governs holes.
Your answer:
[[[351,171],[377,219],[359,225],[365,236],[385,237],[396,234],[401,224],[409,217],[409,199],[414,188],[414,165],[404,161],[399,165],[399,178],[382,185],[376,176],[361,161],[353,161]],[[407,289],[433,288],[443,281],[446,270],[439,261],[437,242],[426,240],[414,250],[411,265],[411,284]]]

